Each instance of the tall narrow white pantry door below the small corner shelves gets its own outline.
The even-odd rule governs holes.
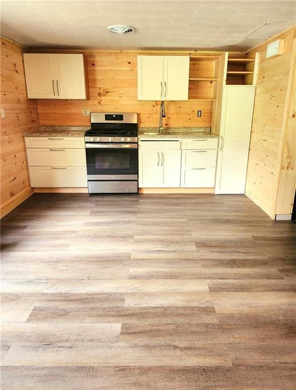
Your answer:
[[[225,86],[215,193],[244,193],[255,87]]]

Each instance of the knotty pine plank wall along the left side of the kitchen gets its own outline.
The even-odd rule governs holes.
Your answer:
[[[19,45],[1,37],[1,208],[16,205],[32,193],[23,133],[38,128],[35,100],[28,100]]]

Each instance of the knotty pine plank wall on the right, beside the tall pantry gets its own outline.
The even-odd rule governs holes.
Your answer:
[[[278,57],[265,58],[267,45],[275,39],[248,54],[259,52],[246,194],[272,218],[294,35],[291,29],[276,38],[285,40],[284,54]]]

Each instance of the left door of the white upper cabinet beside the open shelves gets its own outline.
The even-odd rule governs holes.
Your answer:
[[[163,56],[138,56],[138,100],[163,99]]]

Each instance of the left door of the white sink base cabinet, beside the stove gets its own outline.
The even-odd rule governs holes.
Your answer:
[[[139,150],[139,187],[159,187],[161,151]]]

